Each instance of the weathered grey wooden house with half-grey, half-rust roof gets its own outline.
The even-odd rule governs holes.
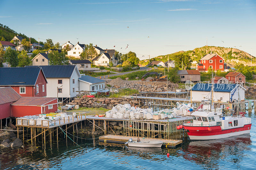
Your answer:
[[[180,82],[185,81],[201,81],[201,74],[198,70],[178,70],[178,75],[180,76]]]

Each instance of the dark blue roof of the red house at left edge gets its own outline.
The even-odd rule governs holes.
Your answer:
[[[40,67],[0,67],[0,86],[34,86]]]

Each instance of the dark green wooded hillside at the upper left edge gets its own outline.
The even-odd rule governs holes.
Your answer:
[[[6,41],[11,41],[15,35],[21,36],[22,38],[27,39],[27,41],[29,41],[28,36],[18,33],[12,30],[11,28],[9,28],[8,26],[0,23],[0,39],[4,38]],[[38,42],[34,38],[31,38],[30,41],[31,43]]]

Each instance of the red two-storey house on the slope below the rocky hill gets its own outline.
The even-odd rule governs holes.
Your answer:
[[[224,66],[225,65],[225,66]],[[198,71],[208,71],[208,68],[211,67],[213,70],[222,70],[226,69],[227,65],[224,64],[224,59],[216,53],[206,54],[203,58],[199,60],[199,63],[196,65]]]

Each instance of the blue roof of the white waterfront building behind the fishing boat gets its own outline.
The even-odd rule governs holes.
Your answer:
[[[236,88],[238,84],[214,84],[214,91],[216,92],[231,92]],[[195,86],[192,87],[192,91],[211,91],[212,84],[208,83],[196,83]]]

